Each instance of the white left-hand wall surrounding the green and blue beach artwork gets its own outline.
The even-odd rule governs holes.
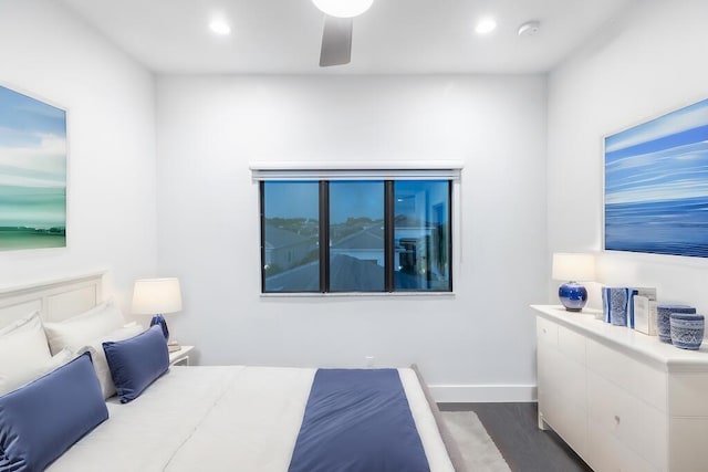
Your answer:
[[[0,252],[0,286],[108,270],[127,308],[156,270],[153,76],[54,1],[0,0],[0,84],[67,111],[66,249]]]

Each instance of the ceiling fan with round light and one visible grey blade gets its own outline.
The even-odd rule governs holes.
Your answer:
[[[325,14],[320,66],[348,64],[352,60],[354,17],[368,10],[374,0],[312,0],[312,2]]]

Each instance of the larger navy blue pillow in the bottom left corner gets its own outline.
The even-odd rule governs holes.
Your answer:
[[[91,355],[84,353],[0,397],[0,470],[42,471],[107,418]]]

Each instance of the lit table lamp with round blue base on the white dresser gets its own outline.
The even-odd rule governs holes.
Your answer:
[[[552,277],[556,281],[569,281],[558,289],[558,297],[569,312],[580,312],[587,303],[587,290],[577,282],[595,279],[595,256],[556,252],[553,254]]]

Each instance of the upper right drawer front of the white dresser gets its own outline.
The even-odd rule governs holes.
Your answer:
[[[592,339],[587,339],[586,348],[590,370],[611,380],[659,411],[667,410],[666,373]]]

